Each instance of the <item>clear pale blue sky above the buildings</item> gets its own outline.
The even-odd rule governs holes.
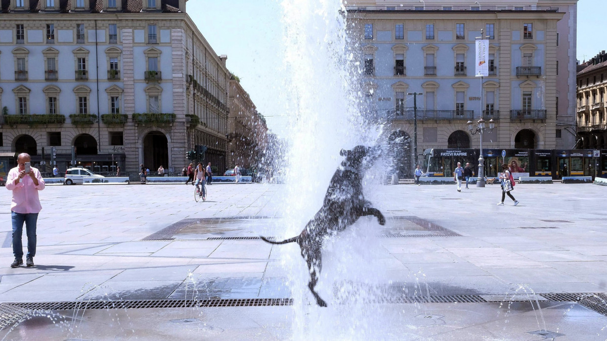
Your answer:
[[[582,62],[607,50],[607,0],[580,0],[577,10],[577,59]],[[284,78],[280,75],[280,1],[190,0],[187,11],[215,53],[228,55],[228,69],[240,77],[240,84],[266,117],[268,127],[283,135],[287,116],[276,105]]]

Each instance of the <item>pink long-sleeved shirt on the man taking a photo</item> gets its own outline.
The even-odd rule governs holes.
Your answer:
[[[32,167],[34,175],[38,179],[38,186],[29,175],[25,175],[18,184],[15,184],[15,178],[19,177],[19,167],[15,167],[8,172],[6,179],[6,189],[13,191],[13,202],[10,204],[10,211],[17,213],[38,213],[42,209],[38,191],[44,189],[44,180],[38,169]]]

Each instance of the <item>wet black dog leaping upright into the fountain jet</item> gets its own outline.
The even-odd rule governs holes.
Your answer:
[[[365,215],[374,215],[380,225],[385,224],[384,215],[378,209],[372,208],[371,203],[362,195],[362,175],[370,167],[370,161],[378,155],[372,155],[374,151],[365,146],[356,146],[352,150],[342,149],[340,154],[345,156],[345,160],[331,178],[322,208],[308,222],[304,231],[297,237],[283,241],[271,241],[261,237],[272,244],[286,244],[293,241],[299,244],[302,257],[308,263],[310,271],[308,288],[319,306],[327,306],[327,303],[314,291],[322,269],[323,238],[328,234],[344,231],[359,217]]]

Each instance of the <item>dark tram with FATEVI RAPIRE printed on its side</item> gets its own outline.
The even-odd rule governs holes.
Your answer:
[[[478,170],[478,149],[426,149],[424,169],[427,177],[453,177],[457,163],[470,163]],[[607,178],[607,150],[593,149],[483,149],[484,175],[497,177],[506,163],[512,176]]]

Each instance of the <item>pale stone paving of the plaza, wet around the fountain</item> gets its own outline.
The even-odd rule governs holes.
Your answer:
[[[328,308],[297,245],[258,238],[294,235],[284,187],[47,186],[16,269],[0,190],[0,338],[607,340],[606,187],[518,184],[497,206],[499,186],[371,186],[388,223],[327,243]]]

